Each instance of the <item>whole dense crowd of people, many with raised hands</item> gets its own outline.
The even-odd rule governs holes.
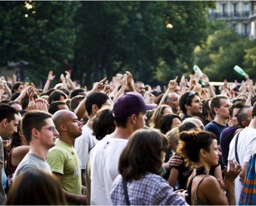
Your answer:
[[[0,204],[256,204],[256,86],[0,79]],[[217,89],[217,90],[216,90]],[[216,92],[218,91],[218,92]],[[254,178],[254,179],[253,179]]]

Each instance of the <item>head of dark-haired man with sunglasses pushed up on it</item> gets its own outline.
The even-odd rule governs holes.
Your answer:
[[[179,99],[179,107],[184,113],[182,121],[203,113],[203,103],[198,92],[186,92]]]

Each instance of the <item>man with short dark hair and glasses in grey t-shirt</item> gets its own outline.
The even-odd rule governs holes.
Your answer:
[[[13,181],[27,169],[40,169],[52,174],[46,156],[49,149],[55,146],[59,135],[55,129],[52,115],[36,110],[26,112],[21,121],[21,131],[29,143],[30,149],[18,165]]]

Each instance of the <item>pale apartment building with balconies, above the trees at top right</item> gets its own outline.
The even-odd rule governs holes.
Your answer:
[[[249,20],[249,14],[251,2],[254,1],[216,1],[216,8],[209,9],[208,11],[208,18],[223,20],[227,22],[238,35],[250,37],[249,25],[251,21]],[[254,13],[256,14],[255,11]],[[256,32],[254,33],[256,35]]]

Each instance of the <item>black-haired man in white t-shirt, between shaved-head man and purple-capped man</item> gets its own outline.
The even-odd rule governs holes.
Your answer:
[[[88,113],[89,119],[86,125],[82,127],[82,135],[79,136],[74,142],[74,149],[78,153],[78,157],[81,161],[81,173],[82,173],[82,185],[85,186],[85,169],[86,162],[91,149],[99,141],[96,136],[93,135],[93,117],[96,115],[97,111],[104,105],[110,105],[109,97],[102,92],[93,92],[89,94],[85,101],[85,108]]]

